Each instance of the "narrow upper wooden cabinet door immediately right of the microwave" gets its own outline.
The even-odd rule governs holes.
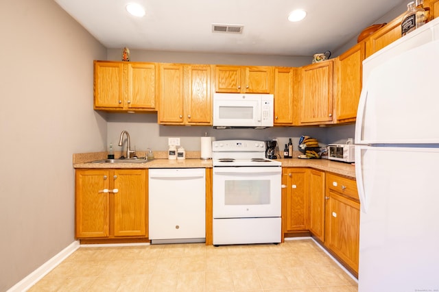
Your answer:
[[[294,69],[274,69],[274,125],[293,123]]]

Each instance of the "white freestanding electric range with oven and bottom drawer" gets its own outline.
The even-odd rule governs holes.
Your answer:
[[[213,142],[213,245],[281,242],[281,162],[264,141]]]

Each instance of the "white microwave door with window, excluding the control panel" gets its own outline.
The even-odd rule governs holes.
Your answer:
[[[259,116],[258,101],[218,101],[213,112],[213,125],[256,127],[261,124]]]

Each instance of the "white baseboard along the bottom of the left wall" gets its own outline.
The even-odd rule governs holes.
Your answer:
[[[47,260],[46,263],[38,267],[35,271],[32,273],[29,273],[23,280],[16,283],[13,287],[11,287],[8,292],[22,292],[27,291],[30,289],[30,287],[34,286],[36,282],[41,280],[44,276],[49,273],[52,269],[54,269],[56,266],[58,266],[63,260],[65,260],[68,256],[73,254],[75,250],[78,250],[80,247],[79,241],[73,241],[69,246],[64,248],[61,252],[56,254],[53,258],[50,260]]]

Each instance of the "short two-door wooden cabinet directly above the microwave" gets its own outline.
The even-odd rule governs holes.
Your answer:
[[[215,66],[217,93],[272,93],[272,66]]]

